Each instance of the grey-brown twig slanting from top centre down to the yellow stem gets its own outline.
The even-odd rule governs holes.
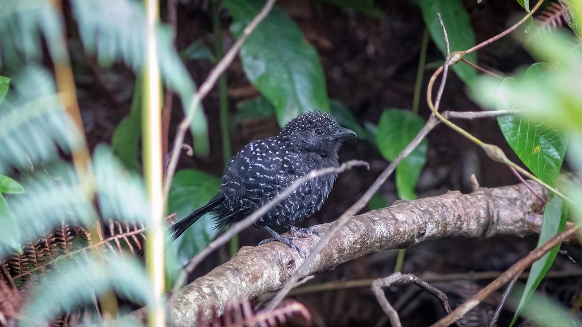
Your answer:
[[[222,73],[226,70],[226,67],[230,65],[230,63],[235,59],[237,52],[239,52],[240,47],[242,47],[243,42],[247,39],[249,34],[258,26],[262,20],[267,17],[271,8],[275,4],[276,0],[268,0],[265,3],[265,6],[261,9],[257,16],[253,18],[250,22],[249,26],[247,26],[243,33],[240,34],[238,40],[236,40],[235,44],[226,55],[222,58],[218,65],[216,65],[208,74],[207,79],[204,83],[200,86],[200,89],[197,93],[194,94],[192,100],[190,101],[190,107],[188,108],[187,115],[182,119],[180,125],[178,125],[178,131],[176,132],[176,137],[174,138],[174,143],[172,147],[172,155],[170,157],[170,161],[168,164],[168,170],[166,172],[166,180],[164,183],[164,198],[168,198],[168,192],[170,190],[170,186],[172,185],[172,177],[176,170],[176,165],[178,164],[178,158],[180,157],[180,148],[182,147],[182,143],[184,142],[184,136],[186,136],[186,131],[190,128],[191,120],[194,116],[194,112],[196,108],[200,104],[200,101],[208,95],[214,84],[216,84],[218,78],[222,75]]]

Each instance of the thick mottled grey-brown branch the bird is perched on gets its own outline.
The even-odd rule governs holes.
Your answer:
[[[544,187],[529,186],[543,198]],[[545,201],[523,184],[480,188],[470,194],[452,191],[438,197],[397,201],[391,207],[354,216],[339,230],[304,272],[306,277],[362,255],[391,248],[406,248],[447,236],[491,237],[502,234],[525,236],[538,233]],[[325,232],[327,226],[316,228]],[[296,240],[310,250],[317,236]],[[271,242],[243,247],[230,261],[183,287],[168,301],[169,319],[179,326],[196,326],[197,319],[212,317],[212,308],[222,314],[226,303],[280,289],[303,258],[285,244]],[[203,310],[201,316],[198,310]],[[143,318],[143,309],[134,312]]]

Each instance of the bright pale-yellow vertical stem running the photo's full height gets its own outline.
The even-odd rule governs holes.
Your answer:
[[[152,278],[155,301],[148,306],[150,326],[165,326],[162,296],[164,279],[164,193],[162,189],[161,79],[159,76],[155,27],[159,20],[158,0],[145,0],[147,13],[147,65],[143,83],[143,165],[150,198],[151,224],[147,230],[146,264]]]

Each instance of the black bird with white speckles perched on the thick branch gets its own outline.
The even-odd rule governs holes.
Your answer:
[[[306,112],[287,123],[276,136],[247,144],[226,166],[218,194],[204,207],[172,225],[173,237],[179,237],[208,212],[215,214],[216,228],[232,225],[311,170],[339,167],[338,151],[343,140],[355,136],[356,133],[340,127],[327,113]],[[293,237],[282,237],[275,229],[321,236],[315,230],[295,225],[321,209],[336,177],[328,174],[311,179],[262,216],[255,225],[273,237],[261,244],[278,240],[305,256],[293,243]]]

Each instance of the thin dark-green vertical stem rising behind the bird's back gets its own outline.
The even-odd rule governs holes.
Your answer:
[[[214,52],[217,61],[221,61],[224,56],[222,50],[222,26],[220,22],[221,0],[212,1],[212,30],[214,31]],[[228,116],[228,98],[226,95],[226,74],[222,73],[218,79],[218,101],[220,108],[220,129],[222,133],[222,161],[226,166],[230,161],[232,149],[230,148],[230,124]],[[235,235],[230,239],[230,256],[239,251],[239,236]]]

